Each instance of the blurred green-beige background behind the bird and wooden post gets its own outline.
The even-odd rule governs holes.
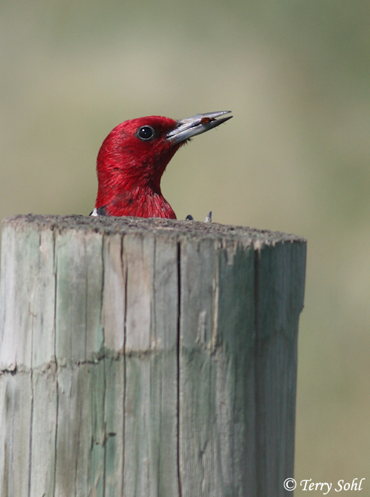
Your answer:
[[[367,478],[362,496],[370,495],[369,24],[369,1],[349,0],[0,6],[0,217],[88,215],[99,146],[121,121],[232,110],[231,121],[175,155],[164,196],[179,218],[212,210],[215,222],[308,239],[295,476]]]

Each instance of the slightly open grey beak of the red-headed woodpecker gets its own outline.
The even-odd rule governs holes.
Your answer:
[[[215,113],[197,114],[193,117],[181,119],[180,121],[177,121],[175,129],[167,133],[166,139],[173,144],[185,142],[193,136],[200,135],[205,131],[219,126],[223,122],[228,121],[228,119],[231,119],[233,116],[222,117],[222,119],[217,119],[217,117],[229,113],[231,113],[231,110],[220,110]]]

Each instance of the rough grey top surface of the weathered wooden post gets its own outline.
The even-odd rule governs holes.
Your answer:
[[[247,226],[233,226],[215,222],[204,223],[198,221],[169,220],[161,218],[145,219],[142,217],[113,217],[99,216],[90,217],[83,215],[14,215],[3,220],[3,228],[12,226],[22,229],[32,225],[37,231],[52,230],[58,233],[77,230],[92,231],[105,235],[153,233],[160,235],[166,232],[168,235],[183,235],[200,239],[211,240],[240,240],[244,244],[253,244],[255,248],[274,245],[282,242],[305,243],[303,237],[282,233],[280,231],[269,231],[251,228]]]

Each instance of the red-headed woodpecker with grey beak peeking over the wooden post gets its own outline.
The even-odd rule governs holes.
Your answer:
[[[221,117],[230,112],[197,114],[179,121],[139,117],[116,126],[97,156],[98,191],[91,215],[176,219],[160,187],[168,162],[191,137],[231,119]]]

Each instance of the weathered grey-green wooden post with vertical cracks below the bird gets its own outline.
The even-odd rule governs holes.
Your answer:
[[[305,253],[220,224],[5,220],[0,495],[291,495]]]

